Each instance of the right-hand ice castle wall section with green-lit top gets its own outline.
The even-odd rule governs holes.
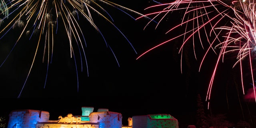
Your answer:
[[[178,120],[169,114],[132,116],[132,128],[178,128]]]

